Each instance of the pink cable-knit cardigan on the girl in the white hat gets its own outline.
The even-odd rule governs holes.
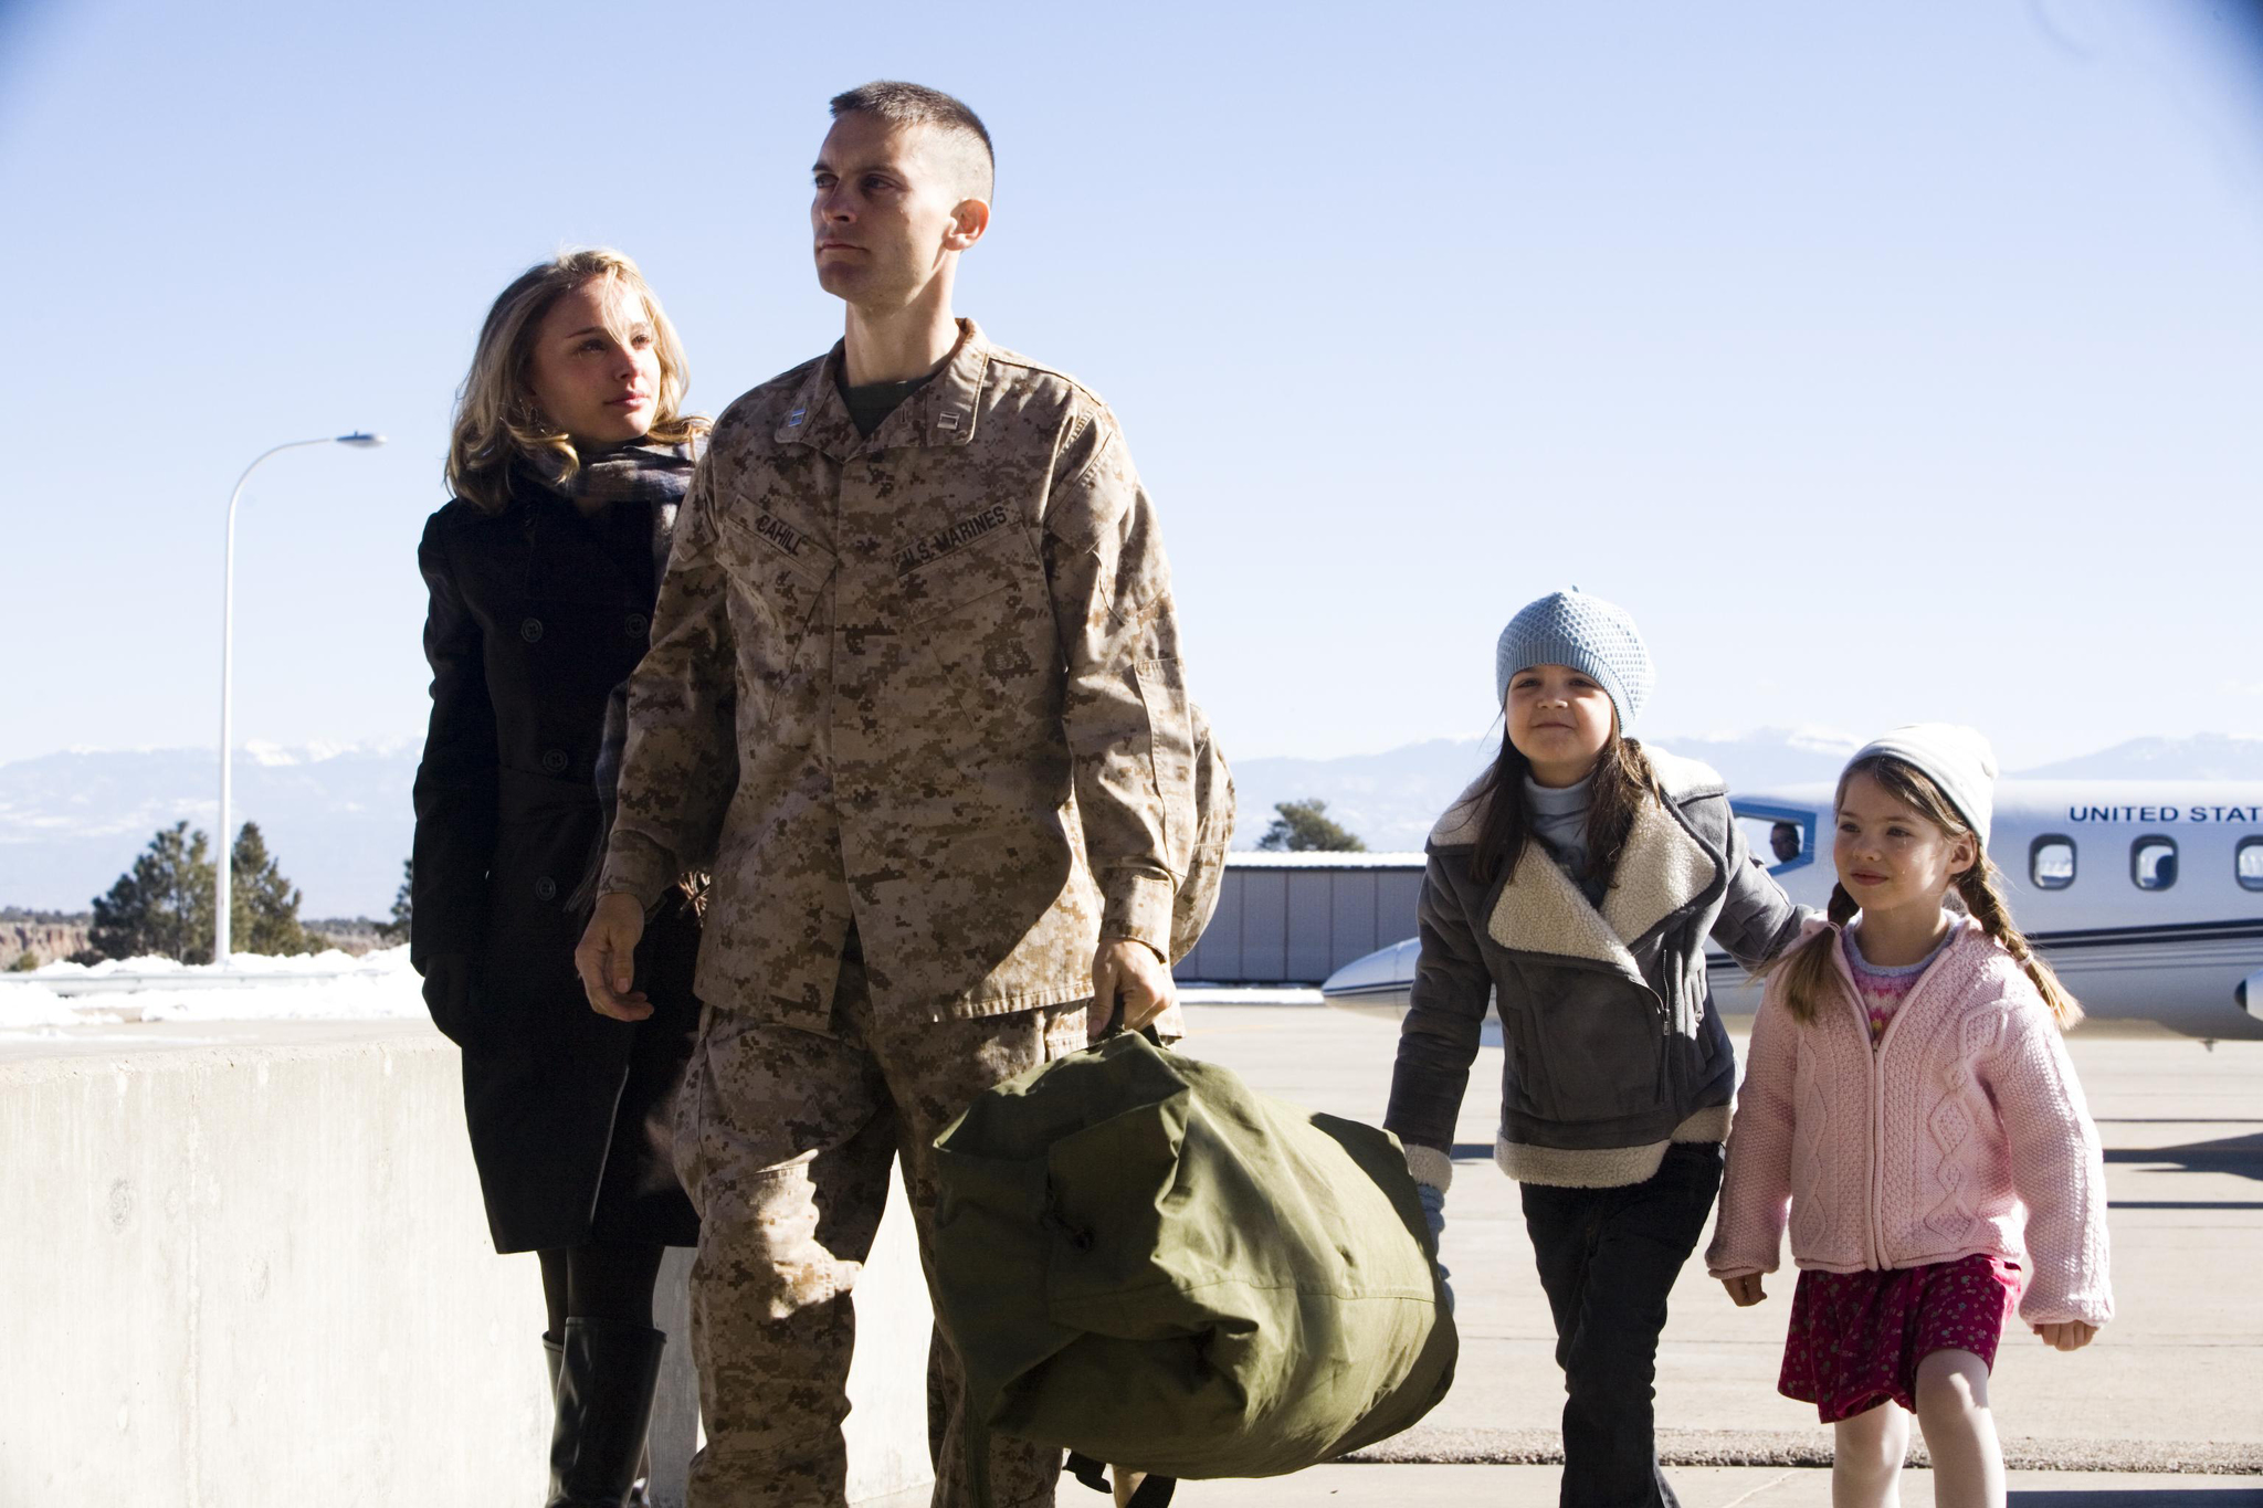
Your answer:
[[[2030,1325],[2105,1325],[2105,1160],[2034,981],[1962,920],[1872,1051],[1838,943],[1838,990],[1813,1022],[1792,1020],[1781,974],[1761,1002],[1706,1271],[1774,1273],[1790,1210],[1804,1268],[1989,1253],[2025,1268]]]

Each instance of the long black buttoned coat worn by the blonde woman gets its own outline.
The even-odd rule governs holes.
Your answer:
[[[464,1049],[464,1117],[496,1250],[690,1246],[670,1110],[699,1022],[699,922],[672,895],[636,956],[654,1015],[588,1008],[570,904],[600,843],[604,705],[652,626],[652,506],[584,518],[532,482],[455,500],[416,561],[432,728],[416,766],[410,959]]]

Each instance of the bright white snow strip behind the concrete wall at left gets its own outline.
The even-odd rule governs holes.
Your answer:
[[[77,993],[100,986],[97,993]],[[407,947],[360,959],[337,950],[265,959],[235,954],[226,970],[172,959],[50,963],[0,983],[0,1029],[100,1022],[281,1022],[423,1015]]]

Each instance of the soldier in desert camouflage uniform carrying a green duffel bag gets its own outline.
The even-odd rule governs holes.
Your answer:
[[[620,816],[579,963],[636,1017],[631,950],[713,870],[677,1158],[704,1223],[697,1508],[842,1503],[853,1316],[901,1155],[921,1250],[932,1139],[1172,1004],[1193,728],[1154,509],[1093,393],[950,314],[989,138],[948,95],[833,102],[819,280],[846,339],[733,402],[677,525],[629,692]],[[935,1503],[962,1503],[937,1350]],[[1000,1503],[1059,1454],[996,1440]]]

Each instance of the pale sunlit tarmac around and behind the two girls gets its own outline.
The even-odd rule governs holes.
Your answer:
[[[1254,1087],[1383,1117],[1394,1022],[1215,1004],[1190,1011],[1190,1031],[1188,1051]],[[1994,1409],[2007,1461],[2084,1467],[2016,1470],[2012,1501],[2263,1506],[2263,1042],[2077,1031],[2068,1045],[2107,1146],[2116,1320],[2073,1354],[2005,1336]],[[1487,1047],[1471,1069],[1446,1203],[1462,1366],[1446,1402],[1383,1447],[1403,1463],[1184,1483],[1181,1503],[1555,1503],[1561,1375],[1516,1185],[1491,1167],[1498,1085],[1500,1051]],[[1790,1284],[1786,1262],[1770,1300],[1738,1309],[1693,1259],[1675,1289],[1659,1424],[1668,1461],[1688,1463],[1670,1465],[1688,1508],[1829,1501],[1829,1431],[1774,1388]],[[1903,1503],[1933,1501],[1928,1472],[1905,1479]],[[1079,1499],[1064,1490],[1061,1501]]]

